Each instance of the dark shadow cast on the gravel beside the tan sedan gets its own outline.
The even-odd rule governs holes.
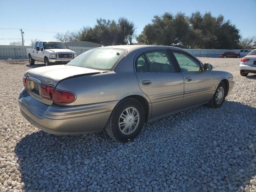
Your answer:
[[[125,144],[104,132],[34,132],[15,147],[23,189],[243,191],[256,186],[255,118],[256,108],[227,101],[149,123]]]

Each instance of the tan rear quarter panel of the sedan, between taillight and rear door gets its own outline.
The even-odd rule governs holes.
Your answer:
[[[58,89],[76,94],[74,105],[119,101],[130,95],[146,95],[140,90],[134,72],[114,71],[62,80]]]

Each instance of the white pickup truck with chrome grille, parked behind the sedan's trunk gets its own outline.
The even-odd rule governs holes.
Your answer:
[[[27,48],[27,55],[30,65],[41,61],[48,66],[51,63],[66,64],[76,57],[76,52],[60,41],[36,41],[34,48]]]

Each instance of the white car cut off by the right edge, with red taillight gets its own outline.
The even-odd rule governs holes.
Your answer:
[[[240,75],[247,76],[248,73],[256,73],[256,49],[241,59]]]

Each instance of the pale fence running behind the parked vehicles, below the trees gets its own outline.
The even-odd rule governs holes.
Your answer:
[[[12,45],[0,45],[0,60],[8,59],[28,59],[26,54],[26,48],[31,46],[12,46]],[[75,47],[69,46],[70,50],[73,50],[77,55],[93,49],[94,47]],[[186,49],[188,52],[196,57],[219,57],[220,53],[224,52],[240,52],[240,50],[228,50],[228,49]]]

